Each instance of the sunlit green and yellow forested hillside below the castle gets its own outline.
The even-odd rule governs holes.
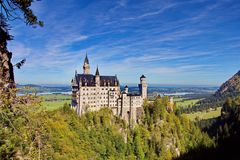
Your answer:
[[[0,121],[0,159],[172,159],[213,145],[188,119],[167,112],[167,103],[165,98],[146,102],[134,128],[107,108],[79,117],[67,105],[54,111],[36,104],[16,105],[13,111],[1,107],[8,119]]]

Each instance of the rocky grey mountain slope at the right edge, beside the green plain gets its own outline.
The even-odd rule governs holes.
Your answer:
[[[240,95],[240,71],[223,83],[220,88],[209,98],[199,101],[194,108],[203,110],[222,106],[227,97]]]

